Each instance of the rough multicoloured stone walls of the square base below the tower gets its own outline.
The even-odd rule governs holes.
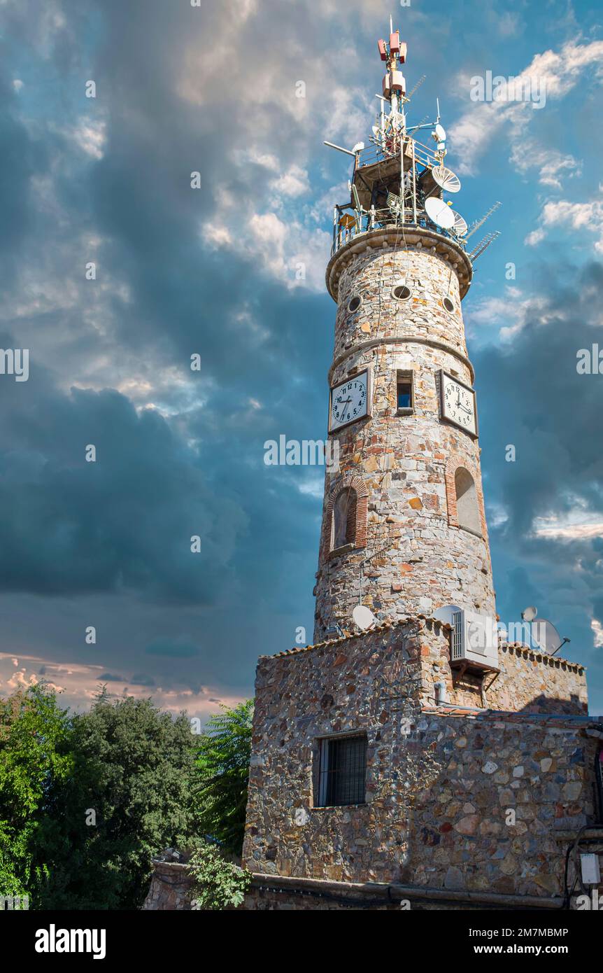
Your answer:
[[[599,742],[587,736],[588,718],[532,714],[527,699],[523,713],[434,707],[426,673],[437,668],[448,679],[433,665],[446,644],[442,626],[417,619],[260,660],[248,868],[342,882],[561,891],[558,838],[594,821]],[[542,664],[503,655],[512,660],[499,676],[509,679],[506,691],[519,681],[527,693],[532,679],[537,698]],[[551,699],[580,697],[580,673],[551,667],[550,675]],[[366,804],[315,807],[318,739],[355,731],[368,739]]]

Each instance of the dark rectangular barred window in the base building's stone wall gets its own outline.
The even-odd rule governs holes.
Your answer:
[[[367,738],[319,740],[317,808],[365,803]]]

